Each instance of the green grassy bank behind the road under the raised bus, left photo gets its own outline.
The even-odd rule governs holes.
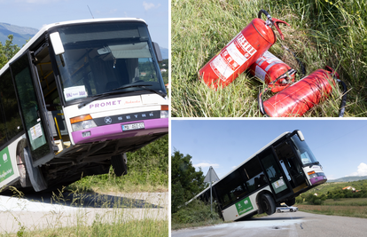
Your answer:
[[[116,177],[111,167],[104,175],[84,177],[67,190],[78,192],[168,192],[168,135],[128,153],[128,175]]]

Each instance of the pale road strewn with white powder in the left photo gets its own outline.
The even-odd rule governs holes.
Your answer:
[[[91,225],[93,221],[167,219],[168,193],[0,195],[0,233]]]

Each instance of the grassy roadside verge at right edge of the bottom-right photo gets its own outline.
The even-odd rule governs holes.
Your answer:
[[[323,205],[297,205],[301,211],[342,216],[367,218],[367,198],[348,198],[339,201],[326,200]]]

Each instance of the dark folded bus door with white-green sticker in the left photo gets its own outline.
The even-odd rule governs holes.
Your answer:
[[[23,126],[26,130],[33,166],[49,162],[54,157],[48,120],[39,88],[38,76],[32,64],[30,51],[26,51],[10,65],[12,78],[20,104]]]

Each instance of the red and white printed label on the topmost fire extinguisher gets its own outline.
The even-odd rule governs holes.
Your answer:
[[[239,33],[231,43],[210,63],[213,71],[225,82],[233,73],[250,59],[256,49]]]

